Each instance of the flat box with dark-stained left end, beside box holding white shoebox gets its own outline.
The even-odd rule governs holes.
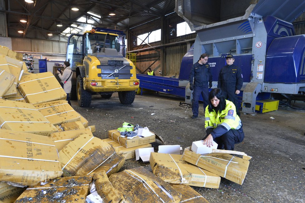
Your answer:
[[[149,160],[152,172],[167,183],[219,188],[220,176],[183,161],[181,157],[152,152]]]

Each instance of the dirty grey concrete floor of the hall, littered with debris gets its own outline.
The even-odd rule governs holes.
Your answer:
[[[191,119],[191,108],[179,106],[180,102],[184,99],[146,94],[122,105],[114,93],[110,99],[94,95],[88,108],[71,103],[89,125],[95,125],[96,137],[108,138],[108,130],[126,121],[148,126],[165,144],[184,149],[205,136],[204,112],[201,104],[199,117]],[[221,178],[219,189],[193,188],[209,202],[305,202],[305,111],[282,108],[257,116],[243,114],[241,120],[245,138],[235,150],[253,157],[243,185]],[[156,151],[161,142],[152,144]],[[149,163],[127,160],[120,171],[136,166],[151,170]]]

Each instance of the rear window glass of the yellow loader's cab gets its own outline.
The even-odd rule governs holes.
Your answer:
[[[116,35],[110,35],[109,33],[86,33],[86,55],[88,50],[92,50],[92,53],[101,52],[103,48],[116,49],[119,52],[119,42]]]

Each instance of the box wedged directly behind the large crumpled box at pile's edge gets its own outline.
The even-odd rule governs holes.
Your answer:
[[[50,134],[50,137],[53,138],[56,149],[60,151],[64,146],[66,146],[70,141],[72,141],[73,138],[79,136],[82,133],[92,135],[89,128],[84,128],[79,130],[53,132]]]

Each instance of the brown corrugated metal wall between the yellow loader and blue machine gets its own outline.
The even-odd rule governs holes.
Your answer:
[[[176,13],[168,15],[164,18],[159,18],[155,21],[143,24],[129,30],[128,36],[128,51],[134,50],[137,53],[137,72],[147,73],[147,68],[151,69],[158,76],[159,71],[162,76],[179,76],[180,65],[182,57],[187,52],[187,44],[183,42],[186,39],[193,39],[196,33],[181,37],[172,37],[169,32],[172,26],[176,27],[177,23],[184,22]],[[163,25],[163,27],[162,27]],[[148,33],[154,30],[162,29],[163,40],[159,42],[150,43],[150,46],[159,46],[157,51],[154,49],[137,51],[137,49],[148,48],[148,45],[141,45],[140,47],[133,45],[132,42],[137,38],[135,36]],[[169,43],[181,42],[177,44],[168,45]],[[130,43],[131,42],[131,43]],[[193,42],[188,42],[189,47]],[[162,46],[167,44],[166,46]]]

